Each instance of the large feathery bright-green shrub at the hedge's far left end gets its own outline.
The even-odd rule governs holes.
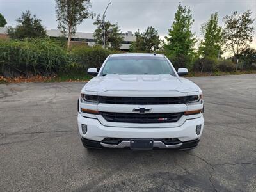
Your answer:
[[[45,39],[6,40],[0,42],[2,73],[51,74],[64,68],[68,62],[67,51]]]

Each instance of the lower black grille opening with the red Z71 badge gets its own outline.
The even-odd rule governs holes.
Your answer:
[[[124,123],[171,123],[177,122],[184,113],[112,113],[100,112],[108,122]]]

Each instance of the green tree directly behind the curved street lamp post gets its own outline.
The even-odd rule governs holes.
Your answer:
[[[93,24],[97,26],[97,29],[93,33],[96,43],[103,45],[103,21],[100,15],[97,15],[97,19]],[[114,50],[120,49],[124,36],[118,24],[111,24],[111,22],[105,21],[105,40],[107,47],[111,47]]]

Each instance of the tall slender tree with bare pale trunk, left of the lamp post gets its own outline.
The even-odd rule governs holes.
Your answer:
[[[91,7],[90,0],[56,0],[58,29],[67,35],[68,48],[72,35],[76,34],[76,26],[81,24],[84,19],[93,18],[93,13],[89,12]]]

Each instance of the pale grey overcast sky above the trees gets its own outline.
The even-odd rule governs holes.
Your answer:
[[[154,26],[159,31],[161,38],[167,35],[179,5],[179,1],[176,0],[111,0],[111,2],[106,13],[106,20],[118,22],[123,32],[134,32],[137,29],[144,31],[147,26]],[[108,3],[109,1],[94,0],[91,10],[102,15]],[[255,0],[188,0],[181,1],[181,3],[184,6],[190,6],[193,19],[195,19],[192,30],[198,36],[201,24],[209,19],[211,13],[214,12],[218,12],[221,25],[222,18],[236,10],[244,12],[250,9],[253,11],[253,17],[256,17]],[[0,13],[4,15],[10,26],[15,26],[15,20],[25,10],[30,10],[42,19],[46,29],[57,28],[54,0],[0,0]],[[77,31],[93,32],[95,26],[92,23],[93,20],[85,20],[77,27]],[[253,44],[255,47],[255,38]]]

